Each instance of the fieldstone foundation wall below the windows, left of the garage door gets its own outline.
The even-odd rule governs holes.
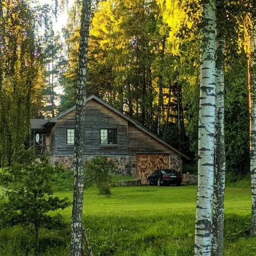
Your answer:
[[[135,175],[136,157],[135,156],[107,156],[108,160],[113,160],[116,165],[116,172],[112,175]],[[92,159],[93,156],[84,156],[84,161]],[[68,169],[74,169],[73,156],[55,156],[51,157],[52,164],[61,164]]]

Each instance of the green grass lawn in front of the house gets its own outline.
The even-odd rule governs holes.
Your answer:
[[[95,188],[85,191],[84,228],[95,255],[193,255],[196,186],[116,187],[111,191],[111,196],[98,195]],[[72,200],[70,191],[57,194]],[[225,255],[256,255],[256,239],[248,236],[250,188],[227,187],[225,199]],[[71,207],[59,212],[70,221]],[[41,255],[68,255],[69,236],[69,228],[61,233],[41,230]],[[29,244],[32,238],[21,227],[0,231],[0,256],[32,255],[26,254]]]

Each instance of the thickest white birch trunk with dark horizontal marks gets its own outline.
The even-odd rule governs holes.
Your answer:
[[[212,250],[212,196],[216,97],[215,0],[206,0],[202,3],[202,19],[195,256],[210,256]]]

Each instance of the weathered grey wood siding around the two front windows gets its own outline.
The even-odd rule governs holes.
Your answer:
[[[104,105],[90,100],[86,105],[84,154],[127,155],[128,121]],[[57,122],[57,155],[72,155],[73,145],[67,144],[67,128],[75,128],[75,113],[71,111]],[[100,145],[100,129],[117,129],[117,145]]]

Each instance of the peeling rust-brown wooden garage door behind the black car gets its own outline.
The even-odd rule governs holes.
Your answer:
[[[169,154],[136,154],[136,176],[142,184],[157,169],[169,169]]]

